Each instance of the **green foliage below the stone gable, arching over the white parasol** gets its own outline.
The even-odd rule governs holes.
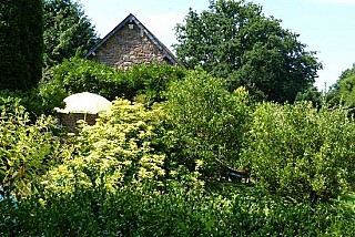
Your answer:
[[[1,90],[0,97],[17,97],[30,113],[31,121],[41,114],[53,114],[63,107],[63,99],[73,93],[98,93],[110,101],[122,96],[148,104],[164,101],[164,91],[173,80],[183,78],[184,70],[171,65],[136,65],[118,71],[88,60],[73,58],[47,70],[38,87],[27,92]]]

